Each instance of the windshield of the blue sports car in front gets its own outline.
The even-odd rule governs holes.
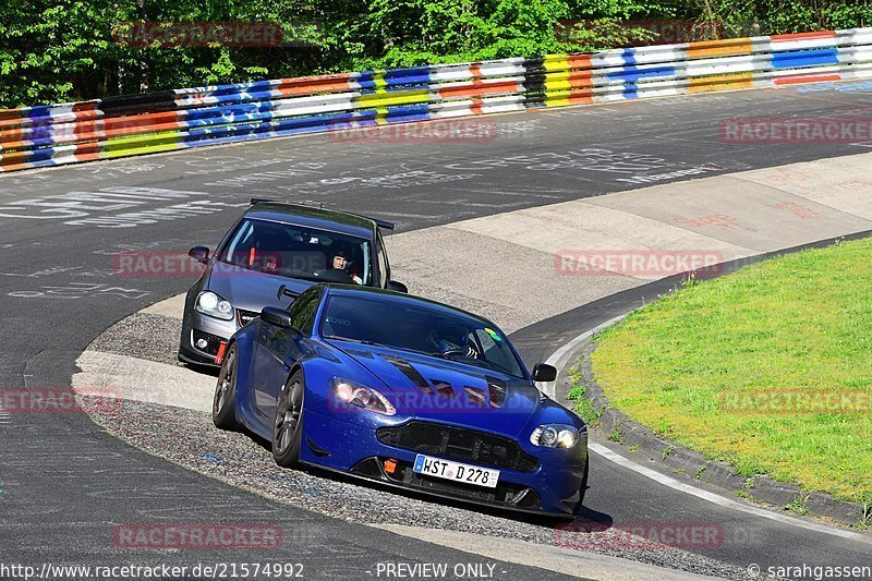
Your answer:
[[[509,340],[488,323],[436,308],[414,299],[374,293],[336,294],[327,300],[320,335],[468,363],[524,378]]]

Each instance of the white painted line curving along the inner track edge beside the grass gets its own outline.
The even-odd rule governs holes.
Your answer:
[[[627,315],[621,315],[619,317],[615,317],[609,319],[602,325],[594,327],[593,329],[583,332],[569,341],[568,343],[564,344],[555,351],[547,360],[549,365],[554,365],[559,371],[562,371],[566,365],[569,364],[569,360],[576,350],[586,340],[589,340],[594,334],[600,332],[604,328],[614,325],[615,323],[619,322],[620,319],[625,318]],[[547,390],[549,391],[548,396],[554,398],[555,391],[555,382],[547,384]],[[546,392],[548,392],[546,391]],[[621,465],[628,470],[632,470],[633,472],[641,474],[647,479],[653,480],[664,486],[668,486],[669,488],[674,488],[676,491],[682,492],[685,494],[689,494],[691,496],[695,496],[697,498],[701,498],[703,500],[707,500],[715,505],[722,506],[724,508],[729,508],[732,510],[738,510],[740,512],[746,512],[748,515],[753,515],[754,517],[761,517],[764,519],[774,520],[784,524],[789,524],[791,526],[799,526],[801,529],[807,529],[809,531],[814,531],[819,533],[824,533],[833,536],[839,536],[841,538],[847,538],[850,541],[857,541],[860,543],[868,543],[872,544],[872,537],[865,534],[856,533],[853,531],[846,531],[843,529],[835,529],[833,526],[827,526],[825,524],[819,524],[816,522],[809,522],[800,519],[796,519],[794,517],[788,517],[787,515],[779,515],[777,512],[773,512],[765,508],[755,507],[752,505],[743,505],[719,494],[710,493],[708,491],[703,491],[702,488],[698,488],[695,486],[691,486],[690,484],[680,482],[671,476],[667,476],[666,474],[662,474],[656,470],[652,470],[650,468],[643,467],[626,458],[618,452],[615,452],[602,444],[596,444],[594,441],[590,441],[588,444],[588,449],[598,456],[602,456],[606,460],[610,462],[615,462],[618,465]]]

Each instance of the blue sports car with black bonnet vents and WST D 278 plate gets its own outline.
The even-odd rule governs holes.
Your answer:
[[[502,331],[389,290],[319,283],[230,339],[213,421],[314,465],[507,509],[572,517],[588,428],[533,382]]]

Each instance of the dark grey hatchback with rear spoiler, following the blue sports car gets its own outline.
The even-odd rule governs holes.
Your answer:
[[[382,238],[392,229],[355,214],[253,198],[215,253],[205,246],[189,252],[206,269],[185,298],[179,360],[219,365],[237,329],[318,282],[404,292],[390,279]]]

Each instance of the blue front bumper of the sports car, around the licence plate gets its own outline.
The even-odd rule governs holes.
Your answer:
[[[412,465],[419,452],[384,444],[371,427],[306,410],[303,434],[301,460],[312,465],[444,498],[560,517],[572,516],[588,462],[586,439],[578,444],[584,446],[584,453],[567,455],[568,461],[541,462],[532,471],[480,462],[479,465],[500,471],[497,487],[486,488],[414,473]],[[444,458],[476,464],[467,459]],[[390,471],[385,465],[388,460],[393,461]]]

